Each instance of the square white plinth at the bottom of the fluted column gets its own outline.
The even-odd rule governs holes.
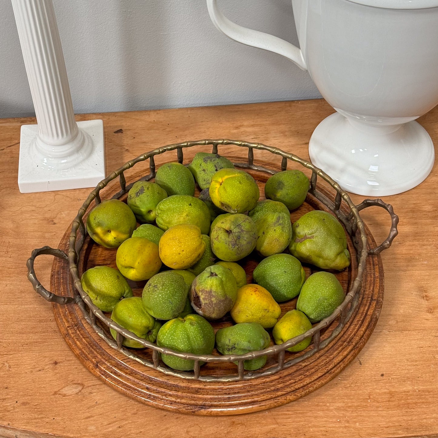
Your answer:
[[[18,188],[21,193],[95,187],[105,178],[105,137],[102,120],[78,122],[84,137],[91,141],[87,153],[75,152],[62,159],[35,159],[38,125],[22,125]],[[72,165],[72,162],[74,164]]]

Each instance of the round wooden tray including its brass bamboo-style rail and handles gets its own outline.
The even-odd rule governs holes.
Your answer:
[[[337,314],[332,315],[328,323],[318,325],[319,328],[316,327],[318,329],[316,332],[315,326],[317,325],[314,325],[312,343],[306,350],[300,353],[290,353],[285,350],[293,345],[293,341],[285,348],[275,346],[271,342],[271,346],[267,349],[271,353],[265,367],[259,374],[246,372],[242,366],[237,366],[229,360],[209,361],[204,366],[198,367],[194,373],[177,375],[173,370],[160,364],[159,354],[155,350],[145,348],[133,351],[134,349],[122,347],[122,335],[118,336],[117,342],[114,341],[109,335],[108,326],[99,321],[100,311],[93,312],[92,305],[87,302],[88,297],[85,297],[84,300],[82,294],[78,293],[78,278],[80,279],[81,274],[86,269],[95,265],[116,267],[117,250],[95,244],[81,226],[76,226],[76,233],[78,233],[79,228],[82,237],[78,239],[79,244],[76,239],[73,239],[74,249],[72,250],[75,223],[65,232],[58,250],[44,247],[32,253],[32,257],[28,261],[28,277],[37,292],[46,299],[55,301],[53,313],[60,332],[79,360],[89,371],[114,389],[148,405],[182,413],[230,415],[265,410],[288,403],[318,389],[339,374],[365,345],[377,323],[383,300],[383,267],[378,253],[389,247],[392,239],[396,236],[398,218],[393,213],[392,207],[380,200],[366,200],[359,206],[355,206],[351,203],[348,194],[342,191],[334,181],[319,169],[314,168],[311,163],[304,162],[292,154],[286,154],[283,151],[277,154],[283,156],[281,167],[278,169],[274,169],[272,166],[270,169],[263,167],[263,163],[254,160],[252,149],[268,148],[264,145],[230,140],[203,140],[170,145],[166,148],[168,148],[167,150],[177,149],[178,160],[183,162],[183,155],[180,152],[182,148],[208,144],[213,145],[213,152],[216,153],[217,146],[222,144],[248,148],[250,152],[247,162],[245,159],[236,160],[235,157],[233,157],[233,161],[237,161],[239,166],[244,167],[257,181],[261,189],[261,199],[264,199],[263,186],[268,177],[278,170],[285,170],[287,167],[285,156],[287,160],[299,162],[310,169],[312,171],[311,189],[304,204],[291,213],[292,222],[313,209],[331,212],[336,214],[339,219],[343,218],[341,222],[347,231],[348,250],[352,263],[343,272],[334,273],[344,290],[350,292],[356,290],[356,293],[351,294],[350,297],[347,294],[349,297],[348,305],[345,305]],[[156,149],[156,154],[165,152],[164,149]],[[275,151],[279,150],[275,149]],[[130,162],[131,166],[127,167],[130,164],[127,163],[121,168],[120,187],[122,190],[115,185],[108,185],[105,199],[120,198],[124,201],[129,187],[136,180],[151,180],[155,176],[153,156],[147,157],[150,159],[150,173],[147,176],[144,172],[140,172],[125,181],[123,170],[132,167],[133,164]],[[144,158],[144,156],[139,158]],[[120,176],[119,171],[116,171],[116,176]],[[323,177],[323,180],[327,181],[335,190],[328,187],[327,184],[317,184],[317,176]],[[108,179],[109,181],[114,180],[114,174],[111,174]],[[89,212],[96,202],[100,202],[99,193],[105,186],[106,184],[96,187],[90,194],[90,196],[94,194],[94,202],[88,202],[88,210],[85,208],[79,212],[84,219],[87,214],[85,210]],[[379,246],[358,216],[358,212],[369,205],[379,205],[388,210],[392,216],[390,235]],[[353,213],[359,217],[359,220],[353,218]],[[82,226],[83,223],[82,221]],[[53,261],[50,281],[50,290],[55,291],[56,295],[44,289],[36,279],[33,261],[39,254],[57,256]],[[74,262],[73,267],[72,261]],[[248,283],[252,282],[252,271],[258,261],[260,259],[256,255],[250,255],[240,261],[247,273]],[[311,265],[304,264],[303,266],[307,277],[318,270]],[[145,283],[130,281],[134,295],[141,296]],[[295,308],[295,304],[296,299],[280,304],[282,307],[281,316],[286,311]],[[96,318],[96,314],[98,318]],[[106,314],[106,317],[108,316],[109,314]],[[231,319],[227,315],[212,325],[214,329],[218,329],[231,323]],[[295,344],[297,342],[300,342],[300,339],[296,340]],[[216,351],[213,352],[213,355],[217,355]],[[247,357],[242,356],[242,358]],[[145,363],[150,365],[145,366]]]

